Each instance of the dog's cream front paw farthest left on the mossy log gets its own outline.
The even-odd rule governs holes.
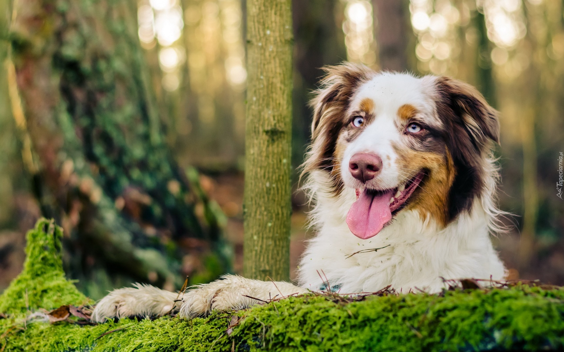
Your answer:
[[[178,311],[178,293],[150,285],[136,283],[135,287],[115,289],[96,304],[91,320],[102,323],[106,319],[127,317],[158,317]]]

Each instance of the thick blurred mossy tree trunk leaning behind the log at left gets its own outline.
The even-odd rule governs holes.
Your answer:
[[[92,297],[108,279],[174,288],[180,260],[192,283],[224,272],[216,213],[165,144],[136,2],[19,0],[14,14],[12,106],[39,205],[63,225],[70,277],[93,280],[81,287]]]

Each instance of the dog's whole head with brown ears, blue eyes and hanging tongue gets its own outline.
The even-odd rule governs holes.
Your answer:
[[[331,192],[355,189],[347,224],[376,235],[397,213],[418,210],[443,226],[469,211],[487,176],[497,112],[469,84],[447,77],[325,69],[305,172],[329,173]]]

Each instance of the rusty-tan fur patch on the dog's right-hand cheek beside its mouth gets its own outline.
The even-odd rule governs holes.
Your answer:
[[[446,226],[451,220],[449,215],[449,194],[456,175],[454,164],[448,150],[445,154],[421,152],[393,145],[398,154],[398,167],[402,177],[411,180],[419,170],[427,175],[418,189],[407,200],[406,209],[418,210],[424,217],[435,219],[438,224]]]

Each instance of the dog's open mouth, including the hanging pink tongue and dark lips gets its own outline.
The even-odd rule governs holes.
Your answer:
[[[356,202],[347,214],[351,232],[362,239],[376,236],[391,220],[392,213],[405,206],[424,176],[425,172],[420,171],[413,179],[393,189],[357,189]]]

